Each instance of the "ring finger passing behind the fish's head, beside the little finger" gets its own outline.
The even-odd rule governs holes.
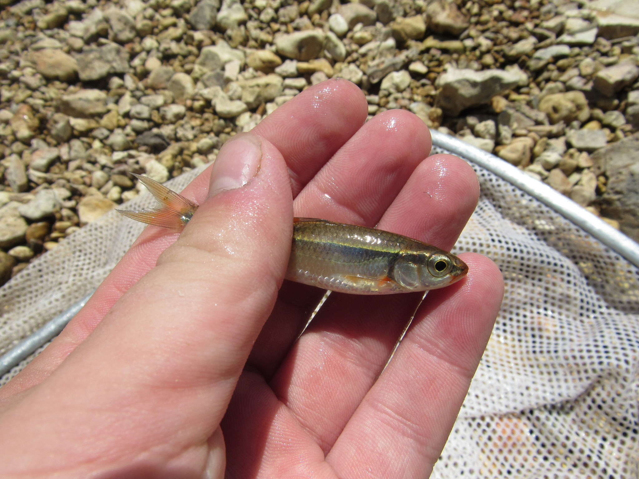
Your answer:
[[[449,250],[478,196],[477,177],[466,162],[451,155],[428,158],[381,218],[380,227]],[[325,452],[371,388],[421,296],[331,294],[300,338],[296,356],[282,363],[273,389],[279,397],[286,391],[285,404]]]

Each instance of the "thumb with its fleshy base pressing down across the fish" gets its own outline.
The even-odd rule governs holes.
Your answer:
[[[250,133],[236,135],[220,149],[210,194],[180,238],[13,408],[17,414],[5,416],[3,429],[22,430],[38,456],[54,462],[91,462],[82,457],[86,441],[91,457],[109,460],[176,438],[178,448],[206,441],[275,302],[292,218],[279,151]],[[26,418],[37,418],[32,430]],[[79,437],[50,441],[70,431]],[[0,439],[0,447],[22,445]]]

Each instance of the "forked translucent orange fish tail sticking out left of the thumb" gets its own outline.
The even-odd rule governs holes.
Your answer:
[[[116,210],[118,213],[122,213],[132,220],[171,229],[182,229],[189,222],[197,209],[197,204],[151,178],[135,173],[132,175],[148,188],[155,199],[160,202],[160,206],[146,211],[118,209]]]

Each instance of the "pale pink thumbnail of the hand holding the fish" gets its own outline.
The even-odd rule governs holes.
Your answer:
[[[259,138],[239,133],[227,141],[218,153],[211,171],[209,197],[246,185],[258,174],[262,159]]]

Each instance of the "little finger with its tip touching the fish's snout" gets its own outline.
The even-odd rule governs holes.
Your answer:
[[[328,454],[337,476],[361,477],[356,462],[367,464],[371,476],[413,478],[431,473],[504,294],[493,262],[478,254],[462,259],[469,266],[465,280],[429,294],[396,356]]]

